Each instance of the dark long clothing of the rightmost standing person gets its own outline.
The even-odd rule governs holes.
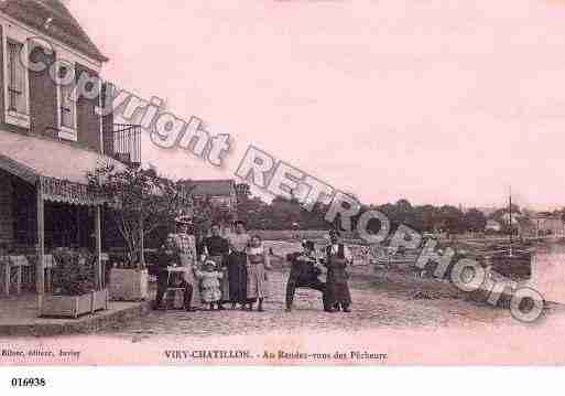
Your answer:
[[[336,253],[332,250],[332,246],[328,246],[326,255],[326,303],[328,307],[334,307],[335,304],[349,307],[351,304],[351,293],[347,283],[345,246],[339,244]]]

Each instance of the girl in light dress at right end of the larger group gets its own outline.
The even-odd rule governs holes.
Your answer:
[[[259,301],[257,310],[263,312],[263,300],[269,292],[267,270],[270,268],[269,255],[261,238],[256,235],[247,249],[247,301],[250,311],[253,310],[253,303]]]

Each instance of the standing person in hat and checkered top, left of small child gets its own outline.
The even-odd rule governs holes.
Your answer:
[[[187,270],[184,275],[184,280],[193,287],[193,296],[191,307],[198,308],[202,306],[200,290],[195,280],[194,271],[197,269],[198,255],[196,253],[196,239],[194,235],[189,234],[189,228],[193,224],[191,216],[176,217],[176,234],[171,234],[170,237],[174,240],[181,266],[186,267]]]

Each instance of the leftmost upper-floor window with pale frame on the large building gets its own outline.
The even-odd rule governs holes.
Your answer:
[[[20,127],[30,127],[30,101],[29,101],[29,74],[22,63],[22,52],[26,51],[24,43],[10,38],[6,41],[4,52],[4,76],[6,89],[6,120]]]

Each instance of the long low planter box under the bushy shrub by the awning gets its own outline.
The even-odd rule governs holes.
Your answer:
[[[108,290],[97,290],[83,296],[42,296],[40,315],[58,318],[78,318],[108,309]]]

